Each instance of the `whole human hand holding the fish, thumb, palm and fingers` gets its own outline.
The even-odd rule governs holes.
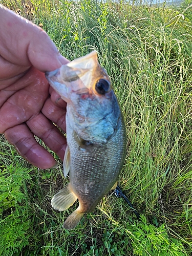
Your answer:
[[[69,62],[47,33],[29,20],[0,5],[0,133],[27,161],[39,168],[56,164],[36,135],[62,160],[66,138],[66,103],[45,78]]]

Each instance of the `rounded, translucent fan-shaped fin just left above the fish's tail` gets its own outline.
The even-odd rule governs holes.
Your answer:
[[[66,210],[77,200],[70,183],[63,187],[51,200],[51,205],[59,211]]]

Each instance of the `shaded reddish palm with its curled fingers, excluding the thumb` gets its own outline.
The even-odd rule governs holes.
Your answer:
[[[15,91],[15,87],[20,90]],[[0,98],[5,101],[0,108],[0,132],[5,133],[20,155],[40,168],[55,164],[51,154],[37,144],[34,134],[63,158],[66,139],[50,120],[65,130],[65,105],[61,109],[51,101],[44,73],[30,68],[24,76],[1,90]]]

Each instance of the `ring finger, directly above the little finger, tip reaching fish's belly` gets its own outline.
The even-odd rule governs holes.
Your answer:
[[[33,134],[44,141],[63,160],[67,145],[66,137],[59,132],[51,121],[42,113],[39,113],[27,121],[27,125]]]

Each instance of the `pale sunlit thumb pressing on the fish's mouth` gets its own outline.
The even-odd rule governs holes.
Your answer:
[[[0,55],[13,64],[52,71],[69,62],[48,34],[29,20],[0,5]]]

